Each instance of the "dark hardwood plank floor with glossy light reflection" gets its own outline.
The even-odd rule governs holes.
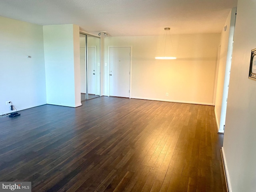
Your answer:
[[[0,118],[0,181],[33,192],[225,192],[214,106],[100,97]]]

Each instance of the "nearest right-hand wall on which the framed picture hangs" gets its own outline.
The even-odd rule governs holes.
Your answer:
[[[255,10],[255,0],[238,0],[223,144],[232,192],[256,190],[256,81],[248,79]]]

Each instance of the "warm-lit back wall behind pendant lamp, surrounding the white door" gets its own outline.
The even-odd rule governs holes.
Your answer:
[[[213,105],[220,34],[172,35],[176,60],[156,60],[163,36],[104,40],[104,95],[108,95],[108,46],[132,46],[132,98]],[[166,96],[166,92],[169,96]]]

